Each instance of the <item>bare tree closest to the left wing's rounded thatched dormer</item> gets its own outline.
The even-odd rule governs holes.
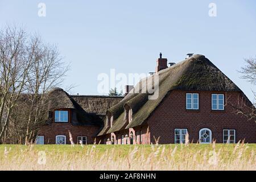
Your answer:
[[[28,110],[26,143],[32,142],[38,126],[44,124],[48,113],[48,101],[51,99],[48,93],[63,82],[69,68],[61,61],[56,46],[43,44],[38,36],[34,37],[34,42],[39,44],[35,51],[31,72],[27,77],[27,95],[31,105]]]

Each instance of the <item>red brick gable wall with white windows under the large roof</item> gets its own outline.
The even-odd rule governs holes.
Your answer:
[[[199,111],[186,110],[186,93],[199,93]],[[256,123],[234,113],[230,105],[224,111],[212,111],[212,93],[223,93],[228,102],[237,104],[239,92],[184,92],[172,91],[147,119],[150,127],[150,140],[160,137],[159,143],[174,143],[174,130],[188,129],[189,140],[199,140],[199,130],[212,130],[212,139],[217,143],[223,142],[222,130],[235,129],[236,142],[245,139],[245,142],[256,143]]]

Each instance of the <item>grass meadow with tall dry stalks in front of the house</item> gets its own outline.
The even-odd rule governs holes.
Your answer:
[[[256,144],[0,145],[0,170],[256,170]]]

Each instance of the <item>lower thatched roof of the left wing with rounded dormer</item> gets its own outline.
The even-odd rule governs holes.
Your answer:
[[[48,110],[72,109],[73,125],[103,126],[106,110],[123,97],[70,96],[61,88],[52,89],[49,94]]]

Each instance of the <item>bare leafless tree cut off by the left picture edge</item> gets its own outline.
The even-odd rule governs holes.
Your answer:
[[[31,68],[31,49],[26,47],[26,33],[6,27],[0,34],[0,139],[9,125],[16,101],[23,92]]]

